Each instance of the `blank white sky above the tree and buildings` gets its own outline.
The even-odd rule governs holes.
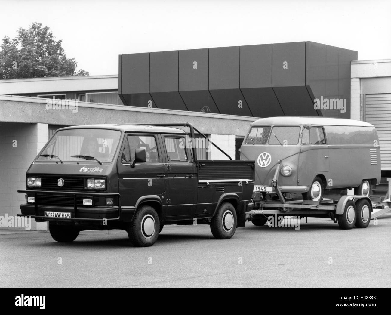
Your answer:
[[[38,22],[90,75],[118,73],[118,54],[290,41],[391,59],[390,0],[0,0],[0,38]]]

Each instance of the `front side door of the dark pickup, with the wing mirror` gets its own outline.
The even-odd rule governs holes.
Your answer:
[[[135,167],[131,167],[136,148],[146,149],[147,162],[136,163]],[[118,192],[121,194],[123,209],[134,206],[142,196],[165,195],[166,178],[162,152],[157,135],[126,135],[117,162]]]

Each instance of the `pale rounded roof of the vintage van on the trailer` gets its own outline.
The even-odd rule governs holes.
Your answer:
[[[320,126],[362,126],[373,127],[365,121],[344,118],[311,117],[311,116],[280,116],[256,120],[251,125],[320,125]]]

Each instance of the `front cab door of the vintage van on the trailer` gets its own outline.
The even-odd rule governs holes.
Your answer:
[[[298,165],[298,185],[311,185],[315,176],[329,179],[329,152],[323,127],[312,126],[301,133]],[[328,186],[326,186],[328,187]]]

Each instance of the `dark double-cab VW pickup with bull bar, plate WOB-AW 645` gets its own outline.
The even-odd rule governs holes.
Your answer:
[[[187,126],[192,138],[169,126]],[[61,128],[27,171],[20,215],[48,221],[59,242],[82,230],[123,229],[134,245],[151,246],[165,224],[209,224],[215,238],[229,239],[253,206],[254,161],[198,160],[194,130]]]

